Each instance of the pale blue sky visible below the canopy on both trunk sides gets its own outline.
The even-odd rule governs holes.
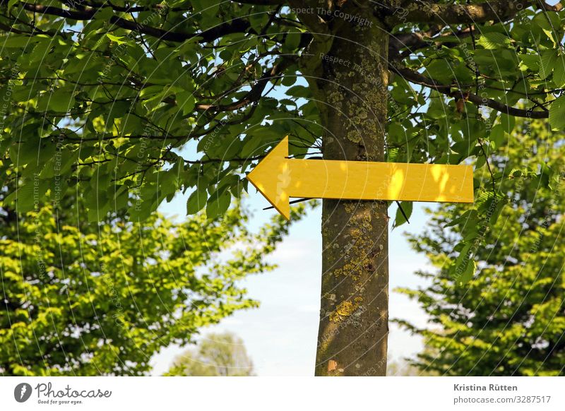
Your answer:
[[[160,211],[169,216],[182,216],[187,198],[187,195],[179,194],[171,203],[162,204]],[[275,213],[275,210],[262,210],[269,204],[261,193],[254,190],[246,198],[246,204],[254,212],[256,226],[267,222]],[[424,213],[426,206],[429,204],[415,204],[410,225],[393,230],[389,240],[390,317],[407,318],[419,325],[426,322],[424,312],[415,302],[393,292],[393,289],[422,284],[414,272],[427,266],[427,260],[410,249],[403,233],[423,230],[428,220]],[[394,213],[395,208],[389,212]],[[313,375],[320,307],[320,227],[321,207],[318,207],[292,224],[289,235],[269,257],[269,261],[276,263],[278,268],[243,281],[249,296],[261,302],[258,309],[239,311],[218,326],[202,330],[203,334],[230,330],[239,335],[259,376]],[[388,347],[389,358],[410,357],[420,351],[422,341],[392,325]],[[183,350],[178,346],[162,350],[152,360],[153,374],[167,371],[174,357]]]

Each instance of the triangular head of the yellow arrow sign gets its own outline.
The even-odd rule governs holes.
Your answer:
[[[287,191],[290,185],[288,136],[283,138],[273,150],[270,150],[270,153],[247,174],[247,179],[280,214],[290,220],[290,203]]]

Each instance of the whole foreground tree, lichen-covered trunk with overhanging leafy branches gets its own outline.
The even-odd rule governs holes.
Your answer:
[[[54,169],[66,189],[85,188],[91,221],[114,209],[143,220],[187,190],[187,212],[206,206],[213,217],[285,135],[293,157],[476,157],[480,169],[514,117],[565,126],[561,4],[0,4],[1,167],[18,186],[6,203],[23,211],[35,176],[49,192]],[[494,205],[489,224],[504,204],[503,177],[475,182],[477,209]],[[403,208],[410,217],[411,204]],[[387,210],[385,201],[323,201],[317,375],[386,373]],[[461,251],[453,275],[474,268],[473,249]]]

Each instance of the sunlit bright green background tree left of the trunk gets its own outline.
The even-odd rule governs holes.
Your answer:
[[[62,205],[0,208],[3,375],[148,374],[163,347],[258,305],[238,281],[273,268],[286,230],[279,219],[253,234],[239,209],[88,225],[73,197]]]

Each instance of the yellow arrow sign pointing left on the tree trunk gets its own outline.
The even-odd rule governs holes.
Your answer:
[[[470,165],[290,160],[288,136],[247,175],[290,219],[290,197],[472,203]]]

